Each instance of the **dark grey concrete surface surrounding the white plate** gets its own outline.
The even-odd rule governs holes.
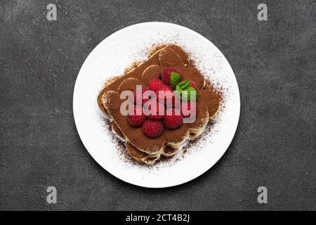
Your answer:
[[[268,5],[268,21],[257,6]],[[58,20],[46,20],[46,6]],[[316,210],[316,1],[0,3],[0,210]],[[223,158],[181,186],[146,189],[101,168],[82,145],[72,91],[88,53],[113,32],[164,21],[228,58],[242,108]],[[46,203],[55,186],[58,203]],[[268,204],[257,203],[258,186]]]

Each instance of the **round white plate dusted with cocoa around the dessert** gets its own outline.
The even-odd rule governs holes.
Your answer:
[[[98,108],[97,96],[105,80],[121,75],[135,60],[145,60],[154,44],[182,46],[204,76],[223,86],[226,97],[225,107],[210,134],[186,153],[150,167],[126,160],[105,126],[105,115]],[[230,64],[211,41],[180,25],[153,22],[119,30],[93,49],[77,77],[73,108],[81,141],[101,167],[130,184],[164,188],[195,179],[222,157],[237,129],[240,98]]]

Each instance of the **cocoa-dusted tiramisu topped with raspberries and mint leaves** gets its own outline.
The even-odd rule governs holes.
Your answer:
[[[180,46],[157,46],[148,59],[106,82],[98,105],[137,162],[175,155],[216,119],[220,93]]]

